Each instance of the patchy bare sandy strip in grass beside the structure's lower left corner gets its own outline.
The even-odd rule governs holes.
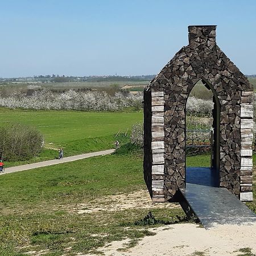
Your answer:
[[[90,203],[82,203],[77,205],[71,205],[69,209],[72,212],[79,214],[99,212],[101,210],[107,210],[109,212],[114,212],[117,210],[126,209],[154,209],[154,208],[180,208],[179,204],[171,203],[152,203],[151,197],[148,191],[137,191],[130,194],[121,194],[113,196],[105,196],[96,199]]]

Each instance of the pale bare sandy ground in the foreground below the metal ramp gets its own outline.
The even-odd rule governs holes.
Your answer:
[[[167,228],[171,229],[167,229]],[[256,253],[256,224],[251,226],[220,225],[213,229],[199,228],[196,224],[175,224],[150,229],[155,236],[144,237],[138,245],[127,250],[117,251],[125,246],[124,241],[115,241],[100,249],[108,256],[139,255],[224,255],[242,254],[236,250],[250,247]],[[94,256],[93,254],[88,254]]]

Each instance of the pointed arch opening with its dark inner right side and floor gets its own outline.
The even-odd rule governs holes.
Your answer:
[[[213,105],[212,107],[208,106],[208,108],[205,108],[204,112],[210,118],[210,125],[204,125],[204,120],[201,117],[198,121],[199,124],[196,123],[196,126],[193,127],[192,123],[192,127],[189,127],[187,105],[189,96],[194,92],[195,86],[197,88],[203,86],[212,96]],[[204,102],[202,103],[204,104]],[[201,108],[204,108],[204,106],[202,105]],[[189,166],[189,163],[187,163],[188,152],[196,152],[197,155],[200,152],[208,152],[208,166],[205,167],[203,164],[202,167],[200,162],[196,164],[196,167],[195,165],[193,167]],[[205,79],[197,81],[188,92],[185,104],[185,159],[185,183],[210,185],[213,187],[220,186],[220,101],[218,100],[216,90]]]

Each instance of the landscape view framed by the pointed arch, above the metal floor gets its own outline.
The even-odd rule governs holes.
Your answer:
[[[201,80],[188,94],[185,105],[186,167],[212,166],[213,93]]]

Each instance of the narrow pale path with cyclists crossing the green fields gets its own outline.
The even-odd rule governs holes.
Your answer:
[[[63,158],[63,159],[48,160],[48,161],[39,162],[39,163],[24,164],[23,166],[9,167],[9,168],[5,168],[5,172],[1,172],[0,175],[10,174],[11,172],[20,172],[20,171],[30,170],[30,169],[44,167],[44,166],[52,166],[53,164],[72,162],[72,161],[76,161],[84,158],[90,158],[92,156],[109,155],[114,151],[115,151],[114,149],[104,150],[104,151],[92,152],[88,154],[68,156],[67,158]]]

